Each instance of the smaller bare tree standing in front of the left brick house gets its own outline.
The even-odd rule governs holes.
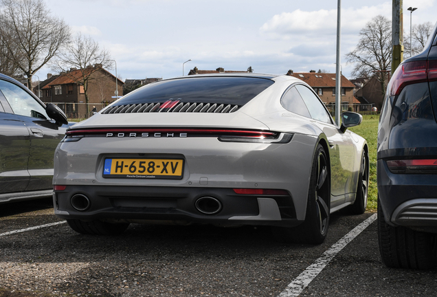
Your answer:
[[[112,65],[111,56],[106,50],[100,50],[96,41],[91,37],[82,36],[78,33],[76,37],[67,45],[65,52],[59,54],[54,65],[54,70],[65,72],[76,84],[83,86],[85,102],[87,103],[87,118],[89,115],[89,81],[93,79],[93,74]],[[71,72],[71,69],[77,69]]]

